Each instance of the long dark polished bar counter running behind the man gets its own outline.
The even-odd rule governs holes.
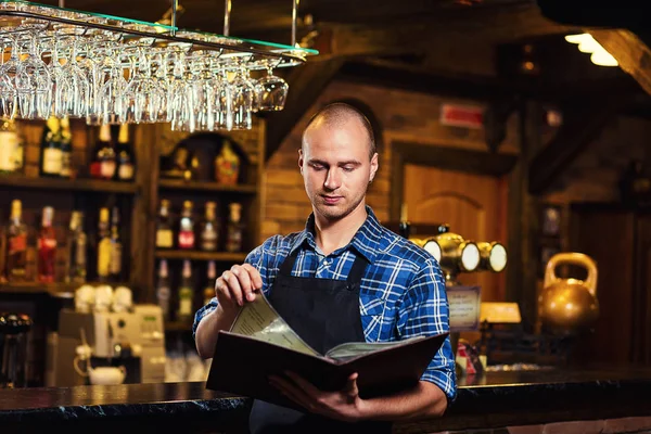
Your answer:
[[[458,397],[443,418],[397,423],[394,432],[651,417],[649,368],[488,372],[458,381]],[[250,404],[204,383],[0,390],[0,432],[242,433]]]

